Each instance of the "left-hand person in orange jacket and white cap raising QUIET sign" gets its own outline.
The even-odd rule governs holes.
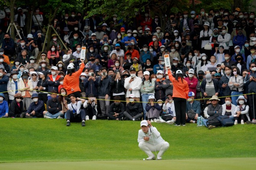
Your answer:
[[[75,71],[75,67],[69,64],[67,69],[67,74],[64,77],[63,86],[66,89],[68,95],[75,95],[75,97],[81,96],[81,91],[79,88],[79,77],[84,69],[84,60],[81,60],[82,64],[78,71]]]

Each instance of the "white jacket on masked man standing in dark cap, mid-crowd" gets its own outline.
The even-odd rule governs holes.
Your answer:
[[[128,98],[130,94],[134,94],[136,98],[139,98],[142,83],[141,78],[135,76],[133,82],[129,83],[130,80],[131,76],[125,79],[124,87],[127,89],[126,98]],[[129,88],[132,88],[132,90],[129,91]]]

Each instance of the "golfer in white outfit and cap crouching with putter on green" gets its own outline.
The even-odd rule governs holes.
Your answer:
[[[139,148],[147,154],[147,160],[156,159],[156,156],[152,151],[159,151],[157,159],[162,159],[162,155],[169,148],[169,143],[163,140],[160,133],[151,125],[149,120],[141,121],[141,129],[138,133],[138,143]]]

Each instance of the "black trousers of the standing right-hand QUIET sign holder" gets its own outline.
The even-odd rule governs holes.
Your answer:
[[[186,104],[187,100],[183,98],[173,98],[175,114],[176,114],[176,124],[186,123]]]

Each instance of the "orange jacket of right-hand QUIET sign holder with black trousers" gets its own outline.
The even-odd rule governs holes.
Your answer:
[[[175,98],[184,98],[188,99],[188,82],[186,80],[183,80],[183,83],[181,82],[181,78],[179,77],[179,81],[177,81],[173,76],[172,72],[168,70],[169,79],[173,83],[173,95],[172,97]]]

